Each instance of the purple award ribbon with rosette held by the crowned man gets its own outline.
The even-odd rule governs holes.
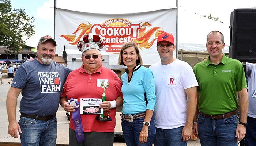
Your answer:
[[[70,98],[69,101],[72,102],[75,100],[73,98]],[[70,102],[68,104],[70,104]],[[83,142],[83,141],[85,141],[85,138],[84,138],[84,134],[83,134],[82,120],[81,120],[81,116],[80,116],[80,112],[79,112],[79,104],[80,103],[77,101],[75,101],[75,102],[76,102],[76,106],[75,106],[76,111],[72,112],[71,114],[72,114],[73,122],[75,125],[76,139],[78,142]]]

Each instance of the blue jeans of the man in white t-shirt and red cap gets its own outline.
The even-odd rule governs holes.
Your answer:
[[[154,146],[187,146],[187,141],[183,142],[181,132],[184,126],[174,129],[156,128]]]

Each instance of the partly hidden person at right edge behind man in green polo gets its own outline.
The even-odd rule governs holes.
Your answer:
[[[246,77],[248,77],[249,111],[245,134],[245,145],[256,144],[256,64],[246,63]]]

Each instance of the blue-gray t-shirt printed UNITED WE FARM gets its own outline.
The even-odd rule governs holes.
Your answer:
[[[37,59],[22,64],[11,85],[22,89],[19,111],[38,116],[56,114],[64,82],[71,71],[56,62],[44,65]]]

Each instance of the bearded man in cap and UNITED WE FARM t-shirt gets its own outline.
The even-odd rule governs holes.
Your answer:
[[[18,138],[18,130],[22,146],[56,145],[56,112],[64,82],[72,70],[52,62],[55,51],[56,41],[50,36],[42,37],[37,46],[38,57],[18,68],[8,92],[8,133]],[[16,105],[20,92],[20,120],[17,123]]]

